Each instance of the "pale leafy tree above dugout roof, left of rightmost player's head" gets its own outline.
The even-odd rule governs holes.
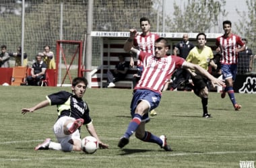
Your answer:
[[[183,8],[173,3],[173,15],[168,16],[170,22],[166,32],[214,32],[222,31],[220,16],[228,14],[224,9],[225,0],[189,0],[185,1]],[[218,28],[218,30],[216,30]],[[221,28],[221,30],[219,30]]]

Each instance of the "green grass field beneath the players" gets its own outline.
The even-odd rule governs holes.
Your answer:
[[[132,136],[124,149],[117,143],[130,120],[130,89],[88,89],[84,100],[102,142],[110,149],[92,155],[82,152],[34,151],[52,131],[57,119],[55,106],[33,114],[21,114],[45,99],[45,95],[69,87],[0,86],[0,167],[239,167],[239,161],[256,161],[255,94],[236,94],[241,111],[234,111],[228,97],[210,93],[209,112],[201,118],[201,100],[191,92],[165,91],[157,116],[146,129],[166,134],[174,151]],[[82,136],[87,136],[82,128]]]

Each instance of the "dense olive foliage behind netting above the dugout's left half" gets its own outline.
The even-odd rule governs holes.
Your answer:
[[[152,0],[94,1],[94,30],[127,32],[139,30],[139,18],[155,23]]]

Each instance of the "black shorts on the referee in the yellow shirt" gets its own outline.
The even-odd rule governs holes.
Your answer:
[[[200,90],[205,88],[205,86],[208,87],[208,79],[202,75],[191,76],[191,79],[194,83],[193,90],[196,95],[199,95]]]

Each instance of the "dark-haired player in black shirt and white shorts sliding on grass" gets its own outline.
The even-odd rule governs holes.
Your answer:
[[[80,126],[86,125],[90,135],[98,140],[99,147],[107,149],[108,144],[104,144],[98,138],[92,119],[89,116],[89,108],[82,97],[86,93],[88,81],[84,77],[77,77],[72,81],[72,92],[59,91],[46,96],[46,100],[41,101],[32,108],[22,109],[22,114],[34,112],[46,106],[57,105],[59,118],[53,126],[54,134],[58,140],[52,142],[46,138],[42,144],[38,144],[35,150],[53,149],[57,151],[81,151]]]

